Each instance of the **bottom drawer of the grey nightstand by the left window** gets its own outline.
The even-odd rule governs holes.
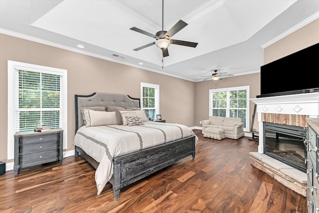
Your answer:
[[[29,164],[37,161],[45,161],[49,159],[56,158],[58,160],[59,152],[58,150],[48,150],[44,152],[37,152],[32,154],[20,155],[19,162],[20,164]]]

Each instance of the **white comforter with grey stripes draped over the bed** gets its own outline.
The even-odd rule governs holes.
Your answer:
[[[181,124],[144,122],[144,125],[109,125],[79,128],[74,145],[99,162],[95,172],[98,195],[113,175],[113,158],[162,143],[195,135]],[[195,137],[197,143],[198,138]]]

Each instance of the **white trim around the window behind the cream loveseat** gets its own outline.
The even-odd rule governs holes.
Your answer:
[[[244,128],[244,132],[250,132],[250,86],[239,86],[239,87],[228,87],[228,88],[219,88],[219,89],[210,89],[208,93],[209,98],[209,109],[208,109],[208,116],[212,116],[212,100],[211,100],[211,93],[213,92],[225,92],[225,91],[233,91],[233,90],[246,90],[247,91],[247,100],[246,100],[246,128]]]

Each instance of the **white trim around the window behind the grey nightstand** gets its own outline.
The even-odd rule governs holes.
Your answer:
[[[62,87],[63,93],[63,149],[67,149],[67,70],[54,67],[41,66],[36,64],[23,63],[18,61],[7,61],[8,69],[8,103],[7,103],[7,159],[14,158],[14,137],[15,134],[15,91],[16,76],[15,69],[25,69],[29,71],[39,71],[48,74],[58,74],[63,76]]]

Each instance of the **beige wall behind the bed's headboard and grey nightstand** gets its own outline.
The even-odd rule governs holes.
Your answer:
[[[7,160],[7,60],[67,70],[68,149],[74,140],[75,94],[114,92],[139,98],[141,82],[159,84],[162,119],[194,124],[194,82],[0,34],[0,161],[12,162]]]

